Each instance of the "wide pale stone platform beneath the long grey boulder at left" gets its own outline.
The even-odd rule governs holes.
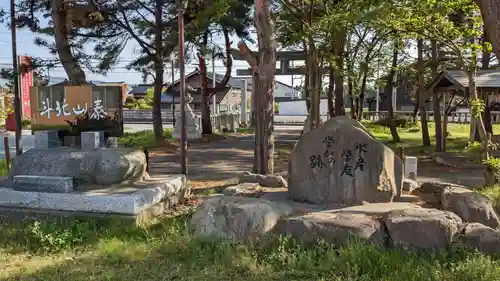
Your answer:
[[[47,193],[0,187],[0,206],[57,211],[138,215],[165,200],[189,194],[186,177],[152,177],[140,183],[86,186],[85,191]]]

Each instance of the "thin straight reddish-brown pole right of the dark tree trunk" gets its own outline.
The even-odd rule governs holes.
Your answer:
[[[183,2],[183,0],[181,0]],[[181,173],[187,176],[186,73],[184,62],[184,4],[179,1],[179,72],[181,96]]]

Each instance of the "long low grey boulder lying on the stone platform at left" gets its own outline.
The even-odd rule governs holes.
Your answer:
[[[77,185],[111,185],[147,177],[146,155],[131,148],[30,149],[16,157],[9,178],[17,175],[73,177]]]

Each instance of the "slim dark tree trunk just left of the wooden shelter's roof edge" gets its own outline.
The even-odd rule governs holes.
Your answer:
[[[424,40],[417,41],[418,52],[418,105],[420,110],[420,123],[422,125],[422,144],[424,146],[431,145],[429,137],[429,125],[427,124],[427,112],[425,110],[425,81],[424,81]]]

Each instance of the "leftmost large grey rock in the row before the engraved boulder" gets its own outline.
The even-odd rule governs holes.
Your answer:
[[[260,198],[218,195],[203,201],[190,224],[199,236],[247,240],[270,232],[292,211],[286,204]]]

